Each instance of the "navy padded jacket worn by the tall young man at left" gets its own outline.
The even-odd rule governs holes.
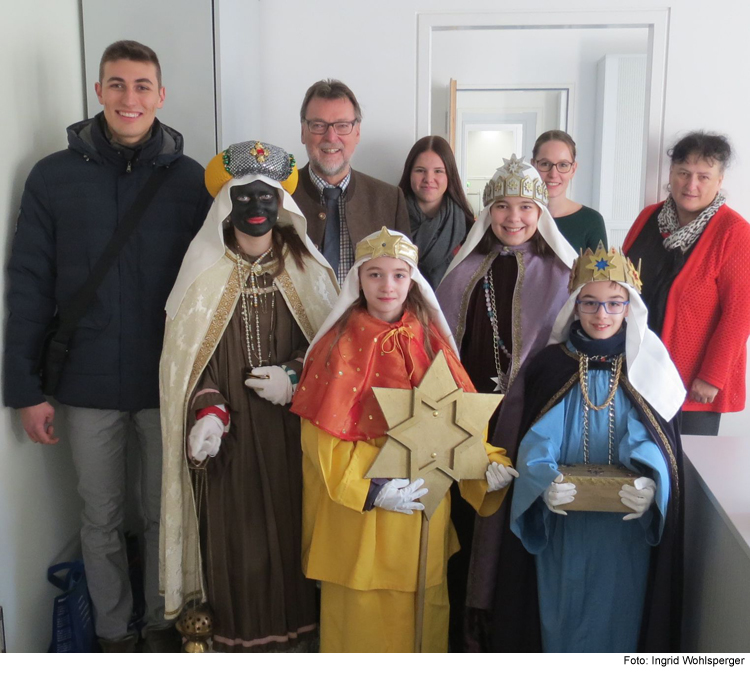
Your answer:
[[[102,114],[70,126],[68,145],[34,166],[21,199],[8,265],[5,404],[45,400],[37,367],[57,308],[83,286],[154,168],[166,166],[76,328],[55,395],[78,407],[158,407],[164,304],[211,203],[203,169],[183,155],[182,135],[158,121],[135,153],[107,141]]]

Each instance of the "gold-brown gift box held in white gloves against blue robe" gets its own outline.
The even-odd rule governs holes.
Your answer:
[[[605,513],[632,513],[620,500],[623,485],[632,485],[640,475],[623,466],[579,463],[560,466],[563,482],[576,486],[575,499],[563,506],[564,511],[603,511]]]

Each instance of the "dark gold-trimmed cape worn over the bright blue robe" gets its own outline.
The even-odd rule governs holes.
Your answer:
[[[591,364],[592,368],[595,366]],[[508,440],[508,456],[516,465],[518,445],[535,421],[578,385],[578,359],[566,352],[563,345],[550,345],[529,362],[524,383],[523,420],[517,439]],[[652,440],[659,447],[670,471],[669,506],[659,545],[651,552],[648,586],[641,623],[639,652],[679,652],[682,624],[683,586],[683,517],[684,475],[682,443],[674,420],[665,421],[633,388],[627,371],[620,377],[620,386],[638,412]],[[515,385],[515,384],[514,384]],[[512,392],[511,388],[511,392]],[[472,650],[483,652],[540,652],[541,632],[537,579],[534,556],[529,554],[516,535],[510,531],[513,488],[503,501],[494,520],[492,536],[485,528],[483,537],[491,537],[499,545],[492,552],[486,540],[474,535],[473,561],[492,561],[495,598],[491,623],[481,612],[469,614]],[[490,557],[491,556],[491,557]],[[476,564],[473,563],[473,567]],[[503,585],[512,584],[507,590]],[[616,585],[612,586],[613,593]]]

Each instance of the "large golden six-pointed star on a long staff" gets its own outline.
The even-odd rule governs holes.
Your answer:
[[[502,395],[466,393],[438,353],[418,387],[373,388],[388,423],[388,439],[366,478],[423,478],[429,492],[419,541],[415,652],[422,652],[429,522],[454,482],[484,479],[484,429]]]

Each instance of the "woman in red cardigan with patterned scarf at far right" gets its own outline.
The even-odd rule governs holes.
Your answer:
[[[688,391],[682,433],[717,435],[721,414],[745,407],[750,225],[720,192],[725,137],[692,132],[669,156],[669,197],[641,212],[623,250],[643,262],[648,324]]]

